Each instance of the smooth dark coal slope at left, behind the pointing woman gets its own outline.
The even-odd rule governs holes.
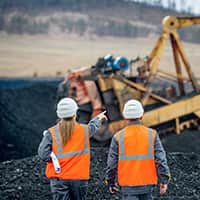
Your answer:
[[[56,121],[59,81],[0,80],[0,161],[36,154],[43,130]]]

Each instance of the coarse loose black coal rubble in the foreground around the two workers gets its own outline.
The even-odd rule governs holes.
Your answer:
[[[108,148],[92,148],[88,200],[120,199],[120,195],[110,195],[103,182],[107,153]],[[168,162],[172,174],[169,190],[161,197],[158,188],[155,188],[155,199],[199,200],[200,156],[195,153],[169,153]],[[0,199],[52,199],[49,181],[44,176],[44,168],[45,164],[38,156],[2,162],[0,164]]]

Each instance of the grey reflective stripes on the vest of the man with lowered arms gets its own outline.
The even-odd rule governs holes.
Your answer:
[[[125,155],[124,151],[124,130],[120,131],[119,135],[119,143],[120,143],[120,152],[119,152],[119,160],[154,160],[153,155],[153,134],[152,129],[148,129],[148,154],[143,155]]]

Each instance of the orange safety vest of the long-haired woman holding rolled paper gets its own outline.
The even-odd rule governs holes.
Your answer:
[[[58,158],[61,172],[56,173],[53,163],[47,162],[46,176],[66,180],[88,180],[90,174],[90,140],[88,126],[76,124],[71,138],[62,145],[58,125],[49,129],[53,144],[52,151]]]

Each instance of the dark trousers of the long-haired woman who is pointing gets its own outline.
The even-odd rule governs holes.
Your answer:
[[[88,181],[50,179],[53,200],[86,200]]]

